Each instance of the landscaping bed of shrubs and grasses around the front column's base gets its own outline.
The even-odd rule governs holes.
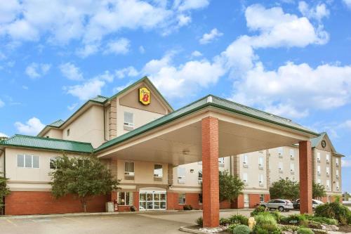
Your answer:
[[[197,219],[197,230],[204,233],[233,234],[326,234],[330,231],[351,232],[351,212],[338,202],[323,204],[309,214],[282,216],[257,207],[251,218],[237,214],[220,219],[220,228],[201,228],[202,218]]]

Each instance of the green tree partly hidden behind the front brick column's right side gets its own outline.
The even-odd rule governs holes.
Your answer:
[[[244,190],[244,182],[238,176],[232,176],[227,171],[219,172],[219,197],[220,202],[224,200],[234,200]]]

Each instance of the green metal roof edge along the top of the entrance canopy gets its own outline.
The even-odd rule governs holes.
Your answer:
[[[160,117],[159,119],[155,119],[154,121],[145,124],[143,126],[140,126],[138,129],[134,129],[133,131],[130,131],[126,134],[123,134],[117,138],[114,138],[110,141],[107,141],[100,145],[98,148],[94,150],[94,152],[98,152],[100,150],[104,150],[106,148],[109,148],[112,145],[116,145],[118,143],[121,143],[123,141],[128,140],[129,138],[133,138],[134,136],[138,136],[139,134],[143,134],[146,131],[150,131],[157,126],[161,126],[163,124],[166,124],[168,122],[171,122],[173,120],[176,120],[180,117],[183,117],[185,115],[190,115],[192,112],[196,112],[198,110],[204,109],[206,107],[213,107],[213,108],[218,108],[221,110],[225,110],[228,112],[233,112],[239,115],[244,115],[246,117],[252,117],[254,119],[258,119],[264,122],[270,122],[272,124],[277,124],[279,126],[284,126],[289,129],[294,129],[297,131],[303,131],[307,134],[312,134],[315,136],[318,136],[317,133],[314,133],[310,129],[305,128],[304,126],[301,126],[300,124],[296,124],[295,122],[292,122],[291,119],[286,119],[283,117],[279,117],[277,115],[272,115],[267,112],[263,112],[261,110],[256,110],[254,108],[249,108],[248,106],[241,105],[239,103],[234,103],[230,100],[226,100],[223,98],[218,98],[213,95],[208,95],[205,96],[204,98],[201,98],[194,103],[190,103],[189,105],[186,105],[184,108],[180,108],[174,112],[169,113],[168,115],[164,115],[163,117]]]

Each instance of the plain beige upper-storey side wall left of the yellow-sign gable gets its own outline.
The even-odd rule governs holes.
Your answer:
[[[67,129],[69,129],[69,136],[67,136]],[[103,107],[92,105],[63,129],[62,138],[70,141],[90,142],[94,148],[104,143]]]

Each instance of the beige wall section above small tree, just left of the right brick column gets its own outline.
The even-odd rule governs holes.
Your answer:
[[[290,150],[294,151],[293,160],[290,157]],[[279,148],[273,148],[268,150],[270,154],[269,158],[269,167],[270,167],[270,183],[279,181],[280,178],[290,178],[293,181],[299,181],[299,165],[298,165],[298,147],[294,146],[284,146],[283,147],[283,157],[279,157]],[[279,172],[279,162],[283,164],[282,173]],[[294,173],[291,174],[290,164],[294,164]]]

